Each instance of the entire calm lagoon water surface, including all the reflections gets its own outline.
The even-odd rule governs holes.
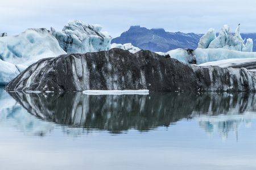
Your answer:
[[[1,169],[256,169],[256,94],[0,88]]]

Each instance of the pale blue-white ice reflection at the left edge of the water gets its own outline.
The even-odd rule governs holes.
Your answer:
[[[40,121],[0,88],[0,126],[15,127],[25,135],[44,136],[55,128],[51,122]]]

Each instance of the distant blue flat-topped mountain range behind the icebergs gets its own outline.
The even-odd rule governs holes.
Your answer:
[[[163,28],[147,29],[139,25],[131,26],[121,36],[112,39],[112,43],[131,43],[140,49],[151,50],[152,52],[168,52],[169,50],[196,49],[201,36],[204,34],[166,32]],[[255,42],[256,33],[241,33],[242,39],[251,38]],[[253,45],[256,51],[256,43]]]

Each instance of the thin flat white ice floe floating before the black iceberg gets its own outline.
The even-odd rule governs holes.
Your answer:
[[[86,95],[148,95],[149,90],[85,90]]]

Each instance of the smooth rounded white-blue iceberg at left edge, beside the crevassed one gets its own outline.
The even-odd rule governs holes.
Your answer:
[[[46,28],[29,28],[17,36],[0,37],[0,59],[14,65],[29,66],[65,53]]]

